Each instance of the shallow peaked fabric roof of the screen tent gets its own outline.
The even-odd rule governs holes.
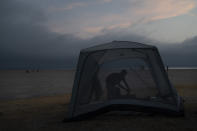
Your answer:
[[[156,48],[152,45],[146,45],[138,42],[131,41],[112,41],[110,43],[96,45],[90,48],[83,49],[82,52],[90,52],[90,51],[99,51],[99,50],[107,50],[107,49],[143,49],[143,48]]]

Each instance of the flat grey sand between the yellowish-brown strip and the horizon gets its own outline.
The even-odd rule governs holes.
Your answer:
[[[72,92],[75,70],[0,71],[0,100],[54,96]],[[196,86],[197,69],[169,70],[174,86]]]

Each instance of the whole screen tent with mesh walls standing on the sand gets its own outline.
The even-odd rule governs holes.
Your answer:
[[[67,120],[113,110],[183,114],[155,46],[113,41],[81,50]]]

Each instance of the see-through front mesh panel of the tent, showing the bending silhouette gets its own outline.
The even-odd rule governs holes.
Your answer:
[[[93,53],[83,68],[77,105],[116,99],[173,103],[172,97],[164,97],[160,92],[153,72],[147,54],[140,50]]]

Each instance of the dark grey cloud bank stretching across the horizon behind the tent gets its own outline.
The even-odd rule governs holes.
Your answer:
[[[71,34],[51,32],[44,11],[20,0],[0,1],[0,68],[68,68],[77,61],[80,49],[113,40],[157,45],[170,66],[197,66],[197,37],[182,43],[159,43],[123,31],[105,30],[84,40]]]

